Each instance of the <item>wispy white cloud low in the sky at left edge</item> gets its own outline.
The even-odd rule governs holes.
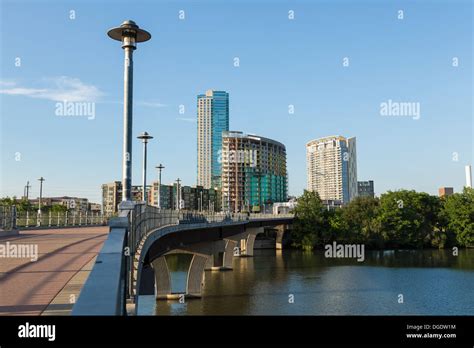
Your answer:
[[[0,94],[26,96],[52,101],[93,102],[99,99],[102,93],[96,86],[83,83],[78,78],[60,76],[46,79],[42,88],[17,86],[11,81],[0,81]]]

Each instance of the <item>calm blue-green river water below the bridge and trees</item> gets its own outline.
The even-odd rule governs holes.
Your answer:
[[[170,259],[182,292],[186,257]],[[140,296],[139,315],[474,315],[474,250],[366,251],[365,261],[324,251],[255,250],[234,269],[206,272],[201,299]],[[400,296],[402,295],[402,297]],[[403,300],[402,303],[401,300]]]

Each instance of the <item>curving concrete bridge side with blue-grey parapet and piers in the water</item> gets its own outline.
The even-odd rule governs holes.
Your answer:
[[[130,203],[129,203],[130,204]],[[145,204],[121,205],[110,233],[84,285],[73,315],[125,315],[139,295],[157,300],[200,297],[205,271],[232,269],[233,257],[253,256],[255,238],[276,229],[275,248],[293,214],[230,214],[163,210]],[[191,254],[184,293],[171,292],[166,255]],[[133,312],[133,311],[132,311]]]

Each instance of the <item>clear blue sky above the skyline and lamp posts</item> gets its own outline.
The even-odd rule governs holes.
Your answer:
[[[123,51],[106,32],[125,19],[152,34],[134,54],[133,131],[155,137],[149,163],[165,165],[166,183],[196,182],[207,89],[229,92],[231,130],[286,145],[291,194],[306,186],[306,142],[328,135],[357,137],[358,179],[377,194],[459,191],[473,162],[471,1],[0,3],[0,196],[30,180],[36,197],[43,176],[45,196],[99,202],[100,185],[120,180]],[[57,116],[64,98],[95,102],[95,118]],[[420,103],[420,119],[381,116],[389,99]],[[141,150],[136,140],[134,184]]]

